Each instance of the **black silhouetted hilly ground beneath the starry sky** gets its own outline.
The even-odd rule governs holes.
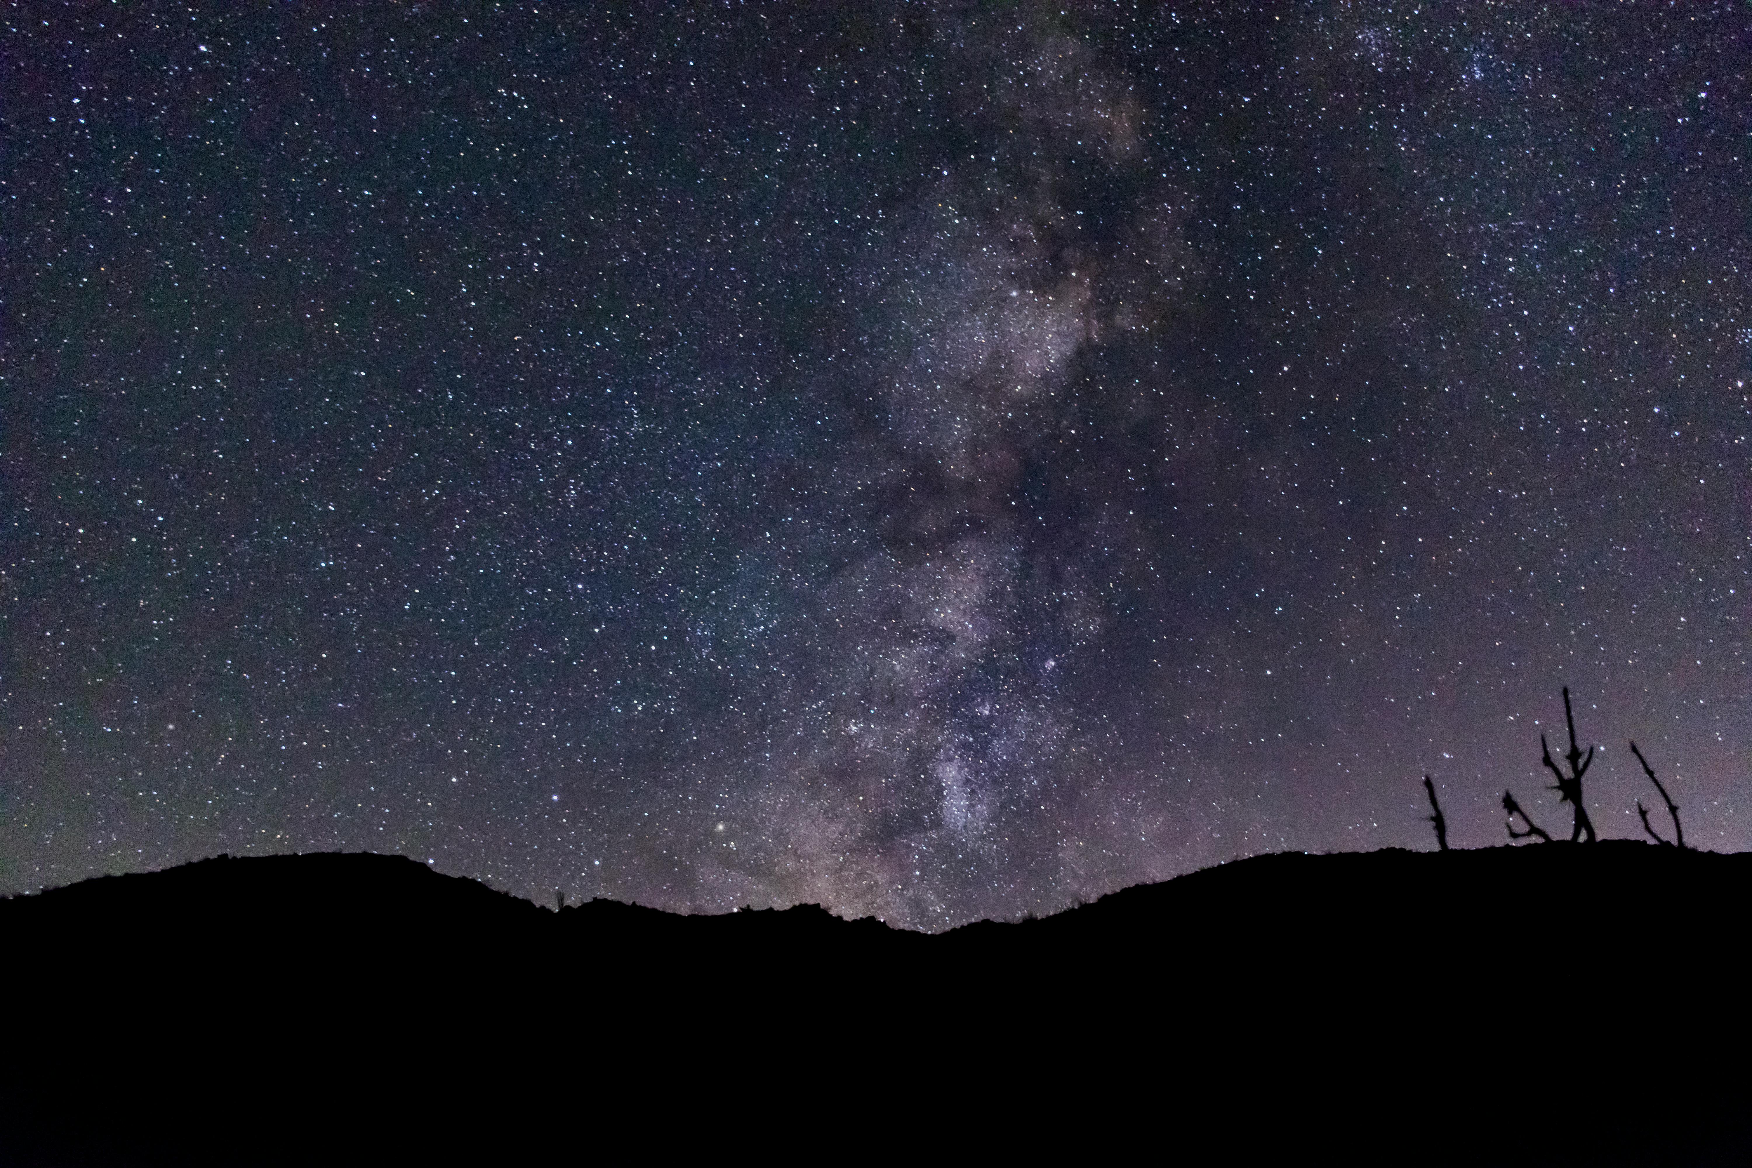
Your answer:
[[[936,937],[207,860],[0,902],[0,1163],[1748,1164],[1748,911],[1752,855],[1638,842],[1258,856]]]

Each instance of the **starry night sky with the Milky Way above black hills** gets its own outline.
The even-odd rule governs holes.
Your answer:
[[[1752,846],[1752,7],[12,4],[0,893]]]

